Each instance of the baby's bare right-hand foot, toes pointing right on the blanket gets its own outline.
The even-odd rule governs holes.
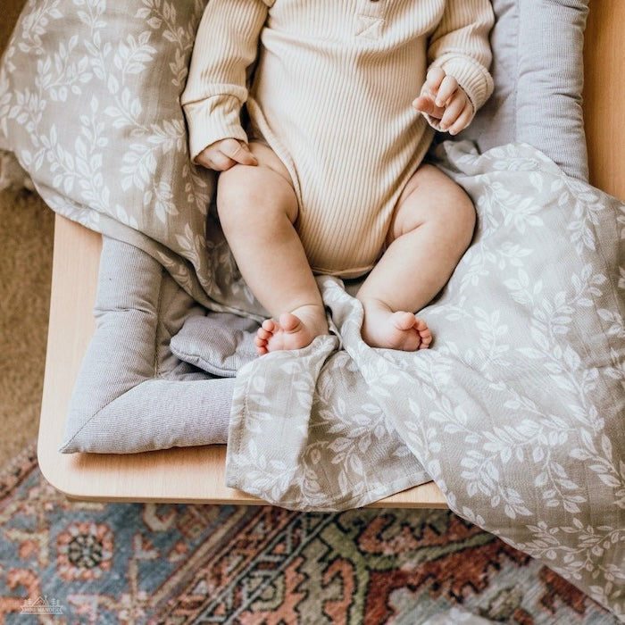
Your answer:
[[[368,346],[414,352],[427,349],[432,342],[428,324],[412,312],[392,312],[378,304],[363,305],[362,340]]]

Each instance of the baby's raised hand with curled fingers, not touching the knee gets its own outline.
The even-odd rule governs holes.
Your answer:
[[[473,116],[473,104],[453,76],[440,67],[433,67],[423,87],[421,96],[412,102],[417,111],[439,120],[441,130],[457,135],[465,129]]]

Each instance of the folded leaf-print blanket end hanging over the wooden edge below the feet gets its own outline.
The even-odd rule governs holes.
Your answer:
[[[385,371],[360,370],[351,357],[364,346],[360,303],[337,279],[319,281],[344,349],[329,335],[250,362],[230,415],[227,483],[299,510],[370,504],[429,480],[370,391],[367,378]]]

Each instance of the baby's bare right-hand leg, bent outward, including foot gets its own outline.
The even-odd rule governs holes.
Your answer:
[[[471,243],[471,199],[442,171],[421,165],[396,204],[387,251],[362,284],[362,338],[373,347],[413,351],[429,346],[414,315],[437,295]]]

